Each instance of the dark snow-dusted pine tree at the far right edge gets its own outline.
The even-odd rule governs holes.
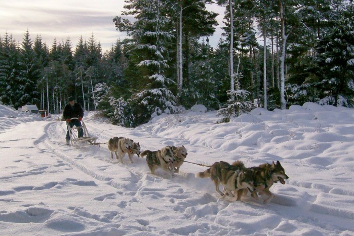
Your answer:
[[[354,106],[354,10],[344,6],[335,20],[336,27],[324,35],[317,46],[316,61],[320,66],[317,85],[323,95],[328,94],[323,104]]]

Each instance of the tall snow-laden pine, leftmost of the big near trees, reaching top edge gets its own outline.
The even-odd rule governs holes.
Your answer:
[[[121,17],[114,18],[117,29],[126,31],[136,41],[134,51],[139,54],[138,67],[145,79],[145,88],[133,94],[134,111],[138,124],[162,113],[175,113],[176,97],[167,88],[173,81],[166,76],[170,60],[166,44],[173,37],[167,17],[168,4],[163,1],[127,1],[125,15],[135,15],[134,23]]]

